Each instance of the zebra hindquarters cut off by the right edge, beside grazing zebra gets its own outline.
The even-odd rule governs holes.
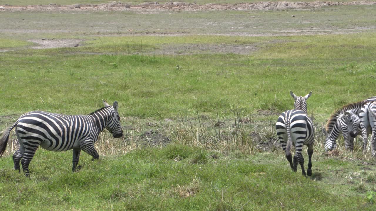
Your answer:
[[[376,101],[367,102],[359,113],[363,139],[363,152],[367,151],[368,134],[371,135],[371,154],[376,156]]]

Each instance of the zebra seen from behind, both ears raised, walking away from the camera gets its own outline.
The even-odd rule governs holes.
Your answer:
[[[302,168],[302,174],[306,175],[304,170],[304,158],[302,155],[303,145],[307,145],[308,153],[308,169],[307,175],[312,175],[312,154],[314,145],[314,127],[311,119],[307,115],[307,103],[306,99],[311,96],[308,95],[297,97],[290,91],[290,95],[295,99],[293,110],[287,110],[283,112],[276,123],[276,132],[278,139],[281,143],[282,149],[285,151],[286,158],[290,163],[291,169],[297,171],[297,164],[299,162]],[[295,146],[294,163],[290,149]]]

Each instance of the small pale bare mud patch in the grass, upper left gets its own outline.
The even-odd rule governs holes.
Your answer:
[[[78,47],[82,39],[32,39],[28,40],[38,44],[32,46],[32,49],[44,49],[44,48],[61,48],[61,47]]]

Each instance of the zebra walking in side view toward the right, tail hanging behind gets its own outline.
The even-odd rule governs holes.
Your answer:
[[[20,172],[20,161],[26,176],[30,176],[29,163],[38,146],[49,151],[73,149],[73,167],[76,170],[80,152],[91,155],[92,160],[99,155],[94,148],[99,133],[107,129],[114,138],[123,136],[118,114],[118,102],[112,106],[103,101],[105,107],[89,115],[60,115],[33,111],[21,115],[0,138],[0,157],[8,143],[9,133],[15,128],[20,148],[13,154],[14,168]]]

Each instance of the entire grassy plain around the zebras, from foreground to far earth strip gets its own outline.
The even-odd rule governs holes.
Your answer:
[[[358,141],[347,152],[340,140],[326,153],[320,132],[335,109],[376,93],[374,11],[0,13],[0,130],[32,110],[88,114],[102,99],[119,102],[124,130],[120,139],[100,134],[100,159],[82,153],[74,173],[71,151],[38,149],[30,178],[13,170],[12,133],[0,158],[0,209],[375,209],[370,151],[362,154]],[[292,21],[292,12],[309,23]],[[116,18],[129,22],[121,28]],[[333,34],[322,35],[329,25]],[[315,31],[289,34],[297,27]],[[68,47],[33,49],[67,40]],[[312,91],[308,178],[290,170],[276,142],[278,115],[293,108],[290,90]]]

